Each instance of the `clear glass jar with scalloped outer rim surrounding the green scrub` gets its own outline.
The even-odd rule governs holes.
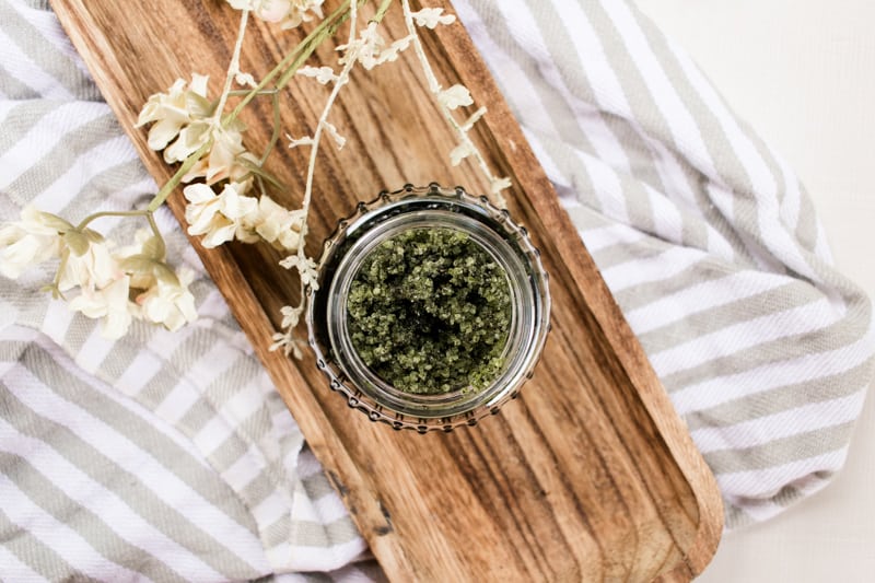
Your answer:
[[[359,268],[381,242],[409,229],[450,229],[466,233],[503,270],[511,296],[508,340],[502,368],[480,390],[463,387],[441,394],[399,390],[371,371],[357,353],[349,334],[347,296]],[[550,293],[540,254],[526,230],[514,223],[506,210],[486,197],[463,188],[405,186],[360,202],[355,213],[339,221],[324,244],[318,267],[318,290],[307,299],[308,342],[317,366],[330,387],[342,394],[350,407],[395,429],[450,431],[474,425],[498,412],[533,374],[550,317]]]

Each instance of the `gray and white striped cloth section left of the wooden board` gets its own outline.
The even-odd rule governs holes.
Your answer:
[[[0,2],[0,215],[71,219],[155,191],[46,2]],[[165,209],[164,209],[165,210]],[[170,212],[200,319],[107,342],[0,280],[0,580],[249,580],[335,571],[365,545]],[[97,228],[125,244],[141,226]]]

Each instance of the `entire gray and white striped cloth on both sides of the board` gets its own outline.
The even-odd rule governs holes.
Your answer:
[[[875,338],[786,164],[626,1],[454,5],[716,474],[727,526],[822,487]],[[154,190],[44,0],[0,0],[0,120],[4,220],[30,202],[125,210]],[[0,579],[378,576],[196,255],[159,220],[199,273],[200,319],[182,331],[136,323],[106,342],[38,293],[46,269],[0,280]]]

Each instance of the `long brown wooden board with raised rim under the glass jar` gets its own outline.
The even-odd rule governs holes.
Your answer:
[[[135,129],[147,97],[176,78],[209,73],[218,95],[238,26],[219,0],[52,0],[122,127],[159,184],[173,173]],[[327,0],[326,10],[334,8]],[[430,5],[450,2],[431,0]],[[370,13],[365,8],[365,15]],[[405,35],[400,8],[384,36]],[[341,28],[339,38],[346,37]],[[200,254],[277,389],[392,581],[687,581],[708,564],[723,511],[713,476],[605,287],[490,73],[459,23],[423,31],[444,86],[466,84],[489,107],[471,136],[514,186],[512,215],[525,224],[551,275],[552,331],[518,399],[475,428],[395,432],[347,407],[307,354],[269,351],[279,308],[296,280],[267,245]],[[242,69],[256,79],[301,38],[254,23]],[[330,45],[330,43],[329,43]],[[334,65],[323,46],[312,65]],[[327,144],[316,172],[311,254],[360,199],[432,180],[482,193],[472,165],[451,166],[453,135],[408,51],[368,74],[357,70],[331,121],[347,139]],[[311,133],[326,88],[302,79],[282,96],[283,130]],[[245,117],[245,142],[271,131],[268,100]],[[300,205],[306,149],[280,147],[269,168]],[[170,206],[182,218],[184,200]]]

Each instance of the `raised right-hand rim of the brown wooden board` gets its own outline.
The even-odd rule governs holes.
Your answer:
[[[698,529],[690,548],[681,549],[686,553],[685,561],[676,568],[678,573],[686,572],[688,573],[686,576],[691,579],[711,562],[723,533],[723,499],[716,479],[693,444],[686,424],[675,411],[644,349],[629,327],[604,279],[587,276],[599,271],[571,224],[568,213],[559,206],[559,197],[552,184],[535,158],[522,128],[482,58],[479,57],[467,31],[462,25],[444,26],[436,30],[435,34],[459,72],[463,83],[470,83],[469,86],[480,84],[485,88],[487,95],[475,95],[478,102],[489,103],[489,112],[482,121],[488,125],[490,132],[505,152],[511,162],[510,166],[523,171],[517,172],[515,176],[518,186],[527,193],[545,225],[550,225],[553,243],[563,263],[569,267],[573,281],[586,298],[598,325],[617,351],[617,357],[630,381],[639,388],[642,403],[665,439],[684,477],[692,487],[699,511]],[[472,55],[477,58],[471,58]]]

